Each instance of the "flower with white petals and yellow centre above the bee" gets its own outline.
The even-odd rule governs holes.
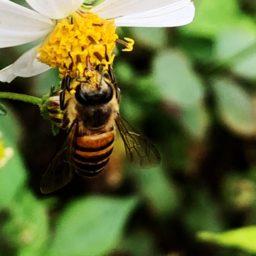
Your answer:
[[[35,11],[0,0],[0,48],[43,38],[16,62],[0,70],[0,81],[31,77],[58,66],[60,77],[83,76],[88,65],[111,65],[115,43],[132,50],[132,39],[118,39],[117,26],[171,27],[193,20],[191,0],[105,0],[92,7],[84,0],[26,0]],[[106,58],[106,56],[110,58]]]

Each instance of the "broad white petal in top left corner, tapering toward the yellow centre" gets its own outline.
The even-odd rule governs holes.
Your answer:
[[[53,29],[53,21],[9,0],[0,0],[0,48],[35,41]]]

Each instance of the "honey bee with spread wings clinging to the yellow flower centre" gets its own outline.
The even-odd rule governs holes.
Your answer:
[[[62,90],[53,95],[50,116],[69,132],[43,174],[42,193],[65,186],[73,177],[73,171],[87,177],[100,174],[112,154],[114,127],[121,134],[130,161],[142,168],[160,163],[156,147],[120,116],[120,90],[112,68],[92,71],[95,72],[93,80],[73,81],[66,75]],[[73,82],[76,83],[75,92],[70,93]]]

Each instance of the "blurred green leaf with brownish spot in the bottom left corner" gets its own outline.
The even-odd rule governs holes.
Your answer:
[[[48,235],[46,208],[26,189],[19,192],[8,208],[9,218],[1,232],[18,255],[41,255]]]

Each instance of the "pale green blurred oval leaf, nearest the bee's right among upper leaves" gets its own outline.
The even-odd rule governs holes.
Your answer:
[[[154,60],[154,80],[164,100],[191,107],[204,95],[203,84],[190,61],[177,50],[162,51]]]

